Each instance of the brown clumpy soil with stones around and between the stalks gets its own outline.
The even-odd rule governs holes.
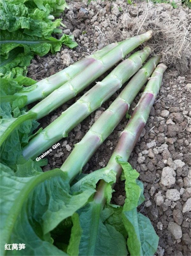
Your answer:
[[[144,32],[149,26],[152,27],[148,22],[153,20],[153,17],[152,24],[156,24],[159,17],[165,19],[166,16],[174,22],[179,22],[180,26],[181,22],[187,23],[190,20],[189,9],[180,4],[176,9],[170,4],[153,5],[146,4],[145,1],[137,1],[136,4],[129,5],[123,0],[115,2],[98,0],[91,1],[90,4],[87,4],[87,1],[69,1],[68,5],[69,10],[66,10],[65,15],[61,17],[66,27],[61,28],[63,33],[73,34],[79,46],[74,50],[63,46],[56,55],[36,57],[28,72],[28,76],[32,79],[39,81],[103,48],[108,43],[121,41],[132,34],[136,35],[135,31]],[[136,28],[138,20],[142,23]],[[151,44],[152,47],[157,45],[154,41],[147,44]],[[161,48],[154,47],[153,53],[160,54],[162,48],[165,49],[165,45],[161,43]],[[145,202],[138,210],[149,217],[159,236],[156,255],[190,255],[189,54],[185,50],[180,58],[175,53],[174,57],[172,55],[172,52],[167,53],[165,50],[162,52],[162,61],[168,65],[168,70],[164,74],[161,89],[129,162],[140,173],[139,179],[144,183]],[[101,81],[110,71],[96,81]],[[95,82],[76,98],[39,120],[40,126],[45,128],[94,85]],[[74,128],[67,138],[60,140],[60,146],[48,155],[48,165],[43,167],[44,171],[61,166],[74,144],[81,140],[118,93],[119,91]],[[133,101],[130,114],[140,96],[141,92]],[[107,165],[126,123],[124,117],[88,161],[83,169],[84,173]],[[115,186],[112,200],[118,205],[123,205],[124,199],[124,182],[120,181]]]

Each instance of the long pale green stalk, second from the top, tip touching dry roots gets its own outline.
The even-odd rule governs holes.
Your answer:
[[[1,132],[1,144],[6,140],[10,133],[25,120],[40,119],[60,105],[64,104],[71,98],[75,97],[79,92],[85,89],[92,81],[110,69],[118,61],[124,58],[129,52],[134,50],[141,43],[149,40],[152,31],[138,35],[120,42],[115,48],[110,50],[99,60],[88,65],[79,74],[74,76],[70,81],[54,90],[50,95],[35,105],[25,115],[19,116],[16,120],[11,120],[11,124],[4,124],[5,129]],[[3,122],[3,121],[2,121]],[[7,127],[8,126],[8,127]]]

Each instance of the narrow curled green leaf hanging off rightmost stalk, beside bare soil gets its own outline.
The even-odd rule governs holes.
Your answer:
[[[151,221],[137,212],[137,206],[145,200],[143,183],[136,180],[139,174],[132,169],[129,163],[120,161],[119,157],[116,160],[123,168],[125,177],[126,199],[122,220],[128,234],[128,250],[130,255],[153,255],[157,250],[159,237],[155,233]]]

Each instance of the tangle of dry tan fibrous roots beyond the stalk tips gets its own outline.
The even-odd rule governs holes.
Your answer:
[[[153,31],[152,39],[145,42],[152,48],[152,55],[161,56],[161,62],[168,66],[168,74],[185,75],[189,72],[190,61],[190,22],[185,17],[177,19],[170,17],[167,12],[160,11],[163,15],[153,15],[151,19],[152,4],[145,4],[142,19],[138,16],[130,19],[127,33],[122,35],[120,23],[105,36],[107,43],[120,41],[129,36],[140,35],[148,30]]]

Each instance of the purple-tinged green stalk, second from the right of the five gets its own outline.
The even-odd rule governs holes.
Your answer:
[[[150,65],[149,62],[145,64],[147,69],[145,69],[144,66],[142,69],[144,72],[140,70],[140,72],[138,72],[131,79],[116,100],[105,112],[103,112],[99,119],[89,129],[83,139],[75,145],[73,151],[61,166],[61,170],[67,172],[71,180],[75,177],[75,175],[78,174],[79,171],[81,171],[82,167],[88,162],[95,150],[111,134],[113,129],[123,118],[129,109],[129,105],[137,95],[137,90],[141,89],[141,87],[147,81],[148,76],[152,74],[154,69],[153,63],[158,63],[158,61],[158,57],[153,57],[150,60]],[[138,84],[135,84],[135,81],[137,81]],[[138,88],[137,90],[134,90],[134,94],[127,93],[129,90],[133,90],[136,86],[138,86]],[[74,161],[74,159],[78,159],[78,161]]]

